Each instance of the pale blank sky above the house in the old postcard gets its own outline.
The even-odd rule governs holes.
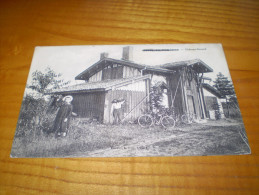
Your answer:
[[[122,48],[128,45],[95,46],[40,46],[35,47],[31,69],[27,82],[31,82],[32,72],[44,71],[47,67],[61,73],[71,84],[80,83],[74,78],[100,59],[100,53],[106,52],[109,58],[121,59]],[[160,44],[131,45],[133,61],[146,65],[161,65],[170,62],[201,59],[214,72],[204,76],[213,80],[219,72],[230,77],[224,51],[221,44]],[[147,51],[143,51],[147,50]],[[150,51],[153,50],[153,51]]]

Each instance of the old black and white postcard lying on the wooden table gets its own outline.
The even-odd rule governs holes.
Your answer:
[[[221,44],[35,48],[13,158],[250,153]]]

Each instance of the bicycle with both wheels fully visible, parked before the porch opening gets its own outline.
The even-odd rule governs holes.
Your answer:
[[[175,120],[173,117],[166,114],[154,115],[144,114],[138,118],[138,124],[141,127],[151,127],[152,125],[162,125],[164,128],[175,126]]]

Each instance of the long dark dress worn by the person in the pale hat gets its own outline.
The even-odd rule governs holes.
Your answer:
[[[54,121],[53,130],[56,132],[67,132],[67,128],[69,127],[70,116],[73,110],[73,106],[71,104],[64,103],[60,109],[58,110],[57,116]],[[65,122],[65,118],[67,121]]]

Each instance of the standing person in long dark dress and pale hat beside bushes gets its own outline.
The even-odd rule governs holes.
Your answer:
[[[70,116],[72,114],[73,106],[71,102],[73,100],[72,96],[65,96],[63,98],[63,104],[58,110],[57,116],[54,121],[53,130],[56,131],[57,136],[65,137],[67,135],[67,129],[69,127]]]

